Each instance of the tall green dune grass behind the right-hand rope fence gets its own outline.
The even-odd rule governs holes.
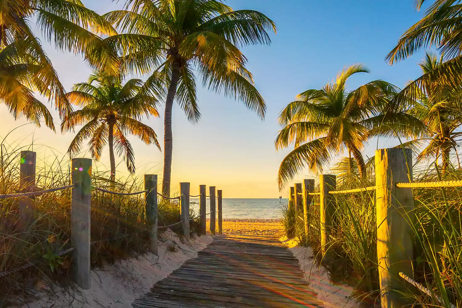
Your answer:
[[[452,168],[442,175],[434,165],[414,167],[414,181],[461,180],[462,170]],[[367,179],[337,180],[337,189],[373,186],[374,174]],[[319,187],[317,187],[319,191]],[[441,298],[439,303],[409,285],[407,296],[420,307],[462,306],[462,188],[414,189],[414,279]],[[336,210],[329,251],[330,260],[321,260],[319,232],[319,196],[309,209],[308,243],[314,257],[324,264],[331,279],[351,284],[356,296],[366,304],[379,303],[377,271],[377,222],[375,192],[335,195]],[[293,221],[295,213],[282,211],[282,221]],[[303,214],[302,214],[303,215]],[[295,230],[285,227],[304,245],[303,220],[297,220]],[[407,283],[406,283],[407,284]]]

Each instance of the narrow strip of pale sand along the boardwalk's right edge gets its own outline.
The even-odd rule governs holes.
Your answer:
[[[311,288],[318,294],[325,308],[356,308],[361,303],[353,298],[353,287],[345,284],[334,284],[329,280],[328,272],[323,266],[316,266],[313,251],[309,247],[297,246],[294,240],[280,239],[292,251],[300,262],[302,272]]]

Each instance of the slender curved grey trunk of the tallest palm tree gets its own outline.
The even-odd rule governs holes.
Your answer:
[[[173,99],[176,95],[176,86],[178,85],[179,75],[180,63],[175,60],[172,65],[172,80],[169,86],[169,91],[167,92],[164,113],[164,177],[162,179],[162,193],[167,197],[170,197],[170,179],[172,173],[172,107]]]

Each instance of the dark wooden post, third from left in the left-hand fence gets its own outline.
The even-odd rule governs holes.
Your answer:
[[[149,250],[158,254],[157,247],[157,227],[158,227],[158,205],[157,205],[157,175],[145,175],[145,199],[146,199],[146,220],[151,227],[151,237],[149,239]]]

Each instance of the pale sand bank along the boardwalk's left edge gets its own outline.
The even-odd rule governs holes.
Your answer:
[[[119,260],[113,265],[91,271],[91,289],[63,290],[41,293],[41,299],[22,308],[126,308],[152,287],[158,280],[167,277],[182,263],[194,258],[197,252],[212,242],[212,236],[201,236],[182,242],[175,233],[167,229],[161,235],[158,251],[137,258]],[[175,251],[172,251],[175,250]],[[51,293],[51,294],[50,294]]]

